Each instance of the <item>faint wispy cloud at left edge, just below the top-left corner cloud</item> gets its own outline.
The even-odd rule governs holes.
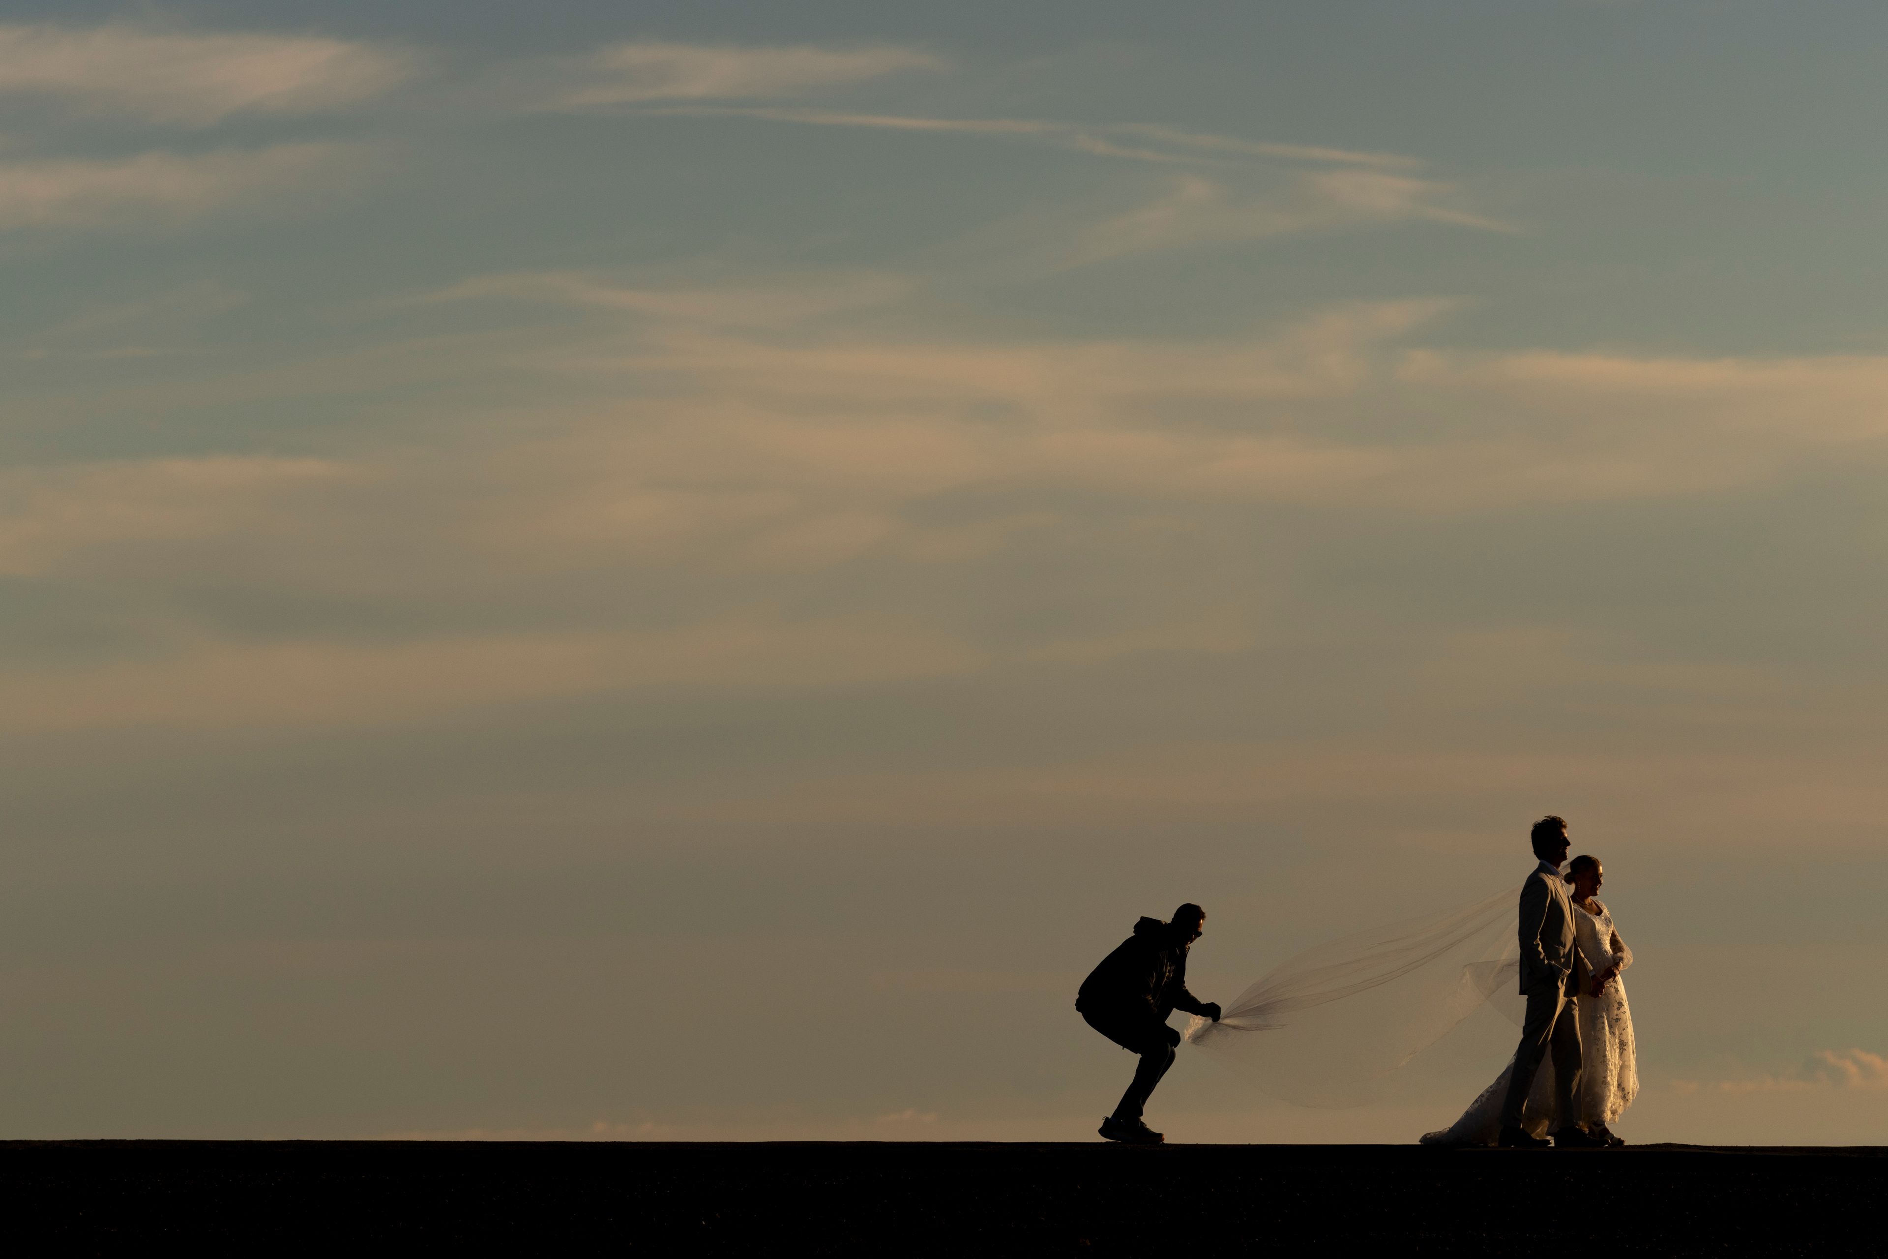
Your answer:
[[[359,145],[308,142],[128,159],[0,162],[0,230],[174,225],[361,170]]]

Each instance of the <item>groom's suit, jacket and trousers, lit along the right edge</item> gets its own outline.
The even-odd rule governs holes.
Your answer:
[[[1541,863],[1522,885],[1522,997],[1527,999],[1527,1019],[1522,1023],[1522,1046],[1514,1051],[1514,1074],[1509,1097],[1501,1106],[1501,1127],[1518,1129],[1527,1091],[1533,1087],[1541,1059],[1554,1053],[1554,1100],[1559,1125],[1571,1127],[1578,1117],[1580,1087],[1580,1019],[1575,999],[1580,993],[1578,949],[1573,934],[1573,900],[1559,878],[1559,868]]]

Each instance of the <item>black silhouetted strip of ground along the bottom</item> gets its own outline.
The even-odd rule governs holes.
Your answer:
[[[1692,1146],[0,1144],[8,1238],[77,1253],[1880,1253],[1884,1174],[1888,1150]]]

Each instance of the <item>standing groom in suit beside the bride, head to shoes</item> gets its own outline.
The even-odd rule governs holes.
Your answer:
[[[1514,1074],[1509,1078],[1509,1097],[1501,1106],[1501,1136],[1505,1148],[1537,1150],[1548,1142],[1522,1129],[1522,1108],[1533,1089],[1541,1059],[1554,1053],[1554,1114],[1559,1116],[1556,1146],[1592,1146],[1607,1142],[1588,1136],[1576,1119],[1580,1087],[1580,1019],[1575,999],[1580,982],[1575,966],[1573,902],[1567,883],[1559,878],[1559,863],[1567,861],[1567,821],[1542,817],[1529,834],[1535,866],[1522,883],[1522,997],[1527,999],[1527,1019],[1522,1023],[1522,1046],[1514,1051]]]

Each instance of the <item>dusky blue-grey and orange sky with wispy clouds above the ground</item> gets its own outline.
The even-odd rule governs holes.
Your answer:
[[[1138,915],[1229,1000],[1552,812],[1622,1136],[1888,1142],[1884,49],[9,0],[0,1134],[1089,1140]]]

